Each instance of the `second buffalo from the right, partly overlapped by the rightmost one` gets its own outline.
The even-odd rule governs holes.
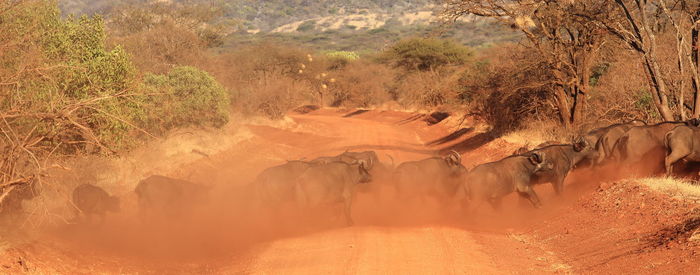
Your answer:
[[[691,125],[691,121],[662,122],[654,125],[635,126],[630,128],[615,143],[612,159],[641,168],[643,174],[654,174],[663,169],[666,149],[664,139],[666,134],[679,125]],[[643,164],[642,167],[637,167]]]

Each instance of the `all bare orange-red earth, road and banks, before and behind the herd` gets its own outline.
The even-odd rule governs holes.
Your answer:
[[[429,125],[411,113],[353,110],[290,117],[292,122],[278,126],[247,125],[251,138],[169,175],[228,190],[286,160],[346,149],[375,150],[387,164],[454,149],[469,168],[516,146],[469,122],[458,126],[458,119]],[[611,173],[574,174],[563,198],[538,186],[545,204],[540,210],[510,198],[503,212],[487,209],[478,217],[445,214],[434,201],[395,201],[391,183],[381,179],[358,193],[353,227],[278,220],[256,228],[247,222],[259,218],[256,213],[237,212],[234,203],[217,208],[236,213],[231,219],[212,215],[198,220],[195,230],[166,238],[161,231],[146,235],[124,225],[131,215],[126,213],[108,221],[107,229],[69,228],[70,236],[92,232],[80,241],[65,237],[64,228],[6,244],[0,247],[0,274],[700,274],[700,240],[693,241],[698,224],[689,219],[700,215],[697,203],[634,182],[600,185],[600,175]],[[301,229],[282,234],[275,227]],[[262,232],[267,235],[259,238]],[[148,249],[156,252],[142,252]],[[163,251],[183,253],[153,257]]]

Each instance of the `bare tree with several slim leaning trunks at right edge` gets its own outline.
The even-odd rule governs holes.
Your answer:
[[[608,14],[576,14],[604,28],[609,34],[618,38],[632,51],[636,52],[647,74],[654,106],[661,117],[674,120],[674,112],[670,107],[668,81],[679,82],[676,87],[678,98],[677,113],[685,119],[685,109],[692,109],[693,117],[700,115],[700,77],[698,74],[698,20],[700,9],[697,1],[688,0],[615,0],[605,3],[613,7]],[[659,65],[659,43],[657,35],[670,25],[675,32],[676,65],[679,74],[670,79],[664,79]],[[688,39],[691,36],[691,39]],[[686,70],[688,68],[688,70]],[[684,81],[690,78],[694,90],[692,107],[684,104]]]

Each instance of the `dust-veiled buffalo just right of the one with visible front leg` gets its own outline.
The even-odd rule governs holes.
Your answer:
[[[461,162],[462,157],[453,151],[445,157],[401,163],[394,170],[397,194],[402,199],[453,198],[466,180],[467,168]]]

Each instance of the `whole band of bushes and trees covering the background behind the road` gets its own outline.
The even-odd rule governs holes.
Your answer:
[[[490,135],[535,127],[559,140],[620,120],[700,115],[692,7],[656,14],[665,24],[642,39],[652,51],[640,36],[619,35],[647,9],[627,17],[617,2],[546,2],[537,12],[448,2],[443,19],[456,23],[447,29],[302,23],[257,34],[230,20],[240,17],[226,2],[119,2],[77,17],[52,1],[0,2],[0,184],[34,182],[57,158],[121,154],[177,128],[222,127],[231,113],[281,119],[303,105],[463,113],[493,126]],[[341,13],[318,10],[330,1],[229,5],[241,3],[261,11],[246,12],[256,14],[249,22],[280,5],[316,9],[275,26]],[[358,14],[425,7],[344,3]],[[513,16],[499,15],[506,8]]]

